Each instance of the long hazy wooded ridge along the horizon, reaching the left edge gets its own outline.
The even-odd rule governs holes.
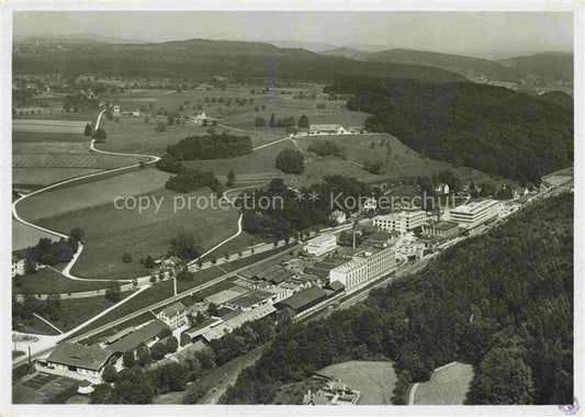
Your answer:
[[[329,81],[338,75],[371,74],[436,82],[464,81],[454,72],[421,65],[362,63],[305,49],[251,42],[188,40],[159,44],[71,44],[67,48],[19,44],[14,74],[99,74],[209,79],[281,78]]]

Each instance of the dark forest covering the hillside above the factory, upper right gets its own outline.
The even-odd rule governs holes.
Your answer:
[[[365,127],[389,132],[424,156],[539,184],[573,164],[573,112],[538,97],[471,82],[445,84],[339,77],[328,91],[372,113]]]

